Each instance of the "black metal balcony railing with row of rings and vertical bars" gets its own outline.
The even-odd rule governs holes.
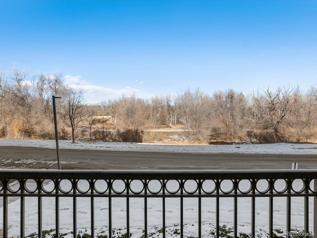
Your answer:
[[[202,237],[202,199],[213,198],[215,200],[215,237],[219,237],[220,231],[220,200],[225,197],[233,199],[233,233],[238,237],[237,226],[238,199],[250,198],[251,210],[251,236],[255,237],[256,231],[256,198],[268,198],[268,234],[273,237],[273,204],[276,197],[286,199],[286,221],[287,232],[291,232],[292,199],[303,197],[304,216],[303,231],[309,233],[312,224],[312,216],[316,207],[310,203],[313,199],[316,204],[317,170],[225,170],[225,171],[44,171],[44,170],[2,170],[0,171],[0,198],[2,199],[3,237],[8,237],[8,208],[11,198],[20,199],[19,227],[20,237],[25,237],[25,204],[26,198],[37,198],[37,226],[38,237],[42,237],[43,220],[50,219],[43,217],[43,199],[53,197],[55,200],[55,237],[60,237],[60,199],[68,197],[72,199],[72,230],[74,237],[77,237],[77,201],[81,197],[90,199],[90,227],[91,237],[95,236],[95,199],[98,197],[107,198],[108,207],[108,228],[107,237],[112,237],[112,200],[115,198],[125,199],[126,205],[126,233],[130,234],[130,207],[131,198],[144,200],[144,237],[148,234],[148,200],[158,198],[161,200],[162,228],[166,227],[166,199],[179,199],[180,231],[182,238],[184,234],[184,199],[196,198],[198,200],[198,231],[197,236]],[[48,186],[48,184],[50,184]],[[314,221],[316,223],[316,220]],[[312,230],[312,229],[311,229]],[[162,237],[165,238],[165,229],[162,229]]]

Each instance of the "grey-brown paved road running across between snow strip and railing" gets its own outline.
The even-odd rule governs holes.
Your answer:
[[[197,154],[60,149],[62,169],[228,170],[317,169],[316,155]],[[0,147],[0,169],[57,169],[54,149]]]

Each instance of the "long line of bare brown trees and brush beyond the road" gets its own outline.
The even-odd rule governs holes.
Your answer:
[[[59,137],[143,141],[149,128],[183,128],[190,141],[316,142],[317,90],[298,85],[265,87],[250,95],[200,89],[141,99],[122,95],[96,105],[67,86],[60,73],[29,76],[13,65],[0,70],[0,138],[54,138],[52,96]],[[83,137],[82,135],[85,134]]]

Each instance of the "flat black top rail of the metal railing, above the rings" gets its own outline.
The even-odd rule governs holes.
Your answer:
[[[0,179],[317,179],[317,170],[0,170]]]

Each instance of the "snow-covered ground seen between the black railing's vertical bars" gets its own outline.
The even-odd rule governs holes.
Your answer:
[[[53,184],[46,186],[47,190],[53,190]],[[155,189],[154,189],[155,190]],[[38,228],[38,200],[36,197],[26,197],[25,206],[25,232],[26,235],[36,233]],[[238,198],[238,225],[239,231],[246,234],[251,233],[251,198]],[[273,203],[274,228],[286,228],[286,198],[276,197]],[[90,229],[90,198],[77,198],[77,227],[85,231]],[[130,226],[136,233],[135,238],[144,229],[144,198],[130,198]],[[310,225],[313,224],[312,208],[313,199],[310,199]],[[64,233],[72,231],[73,199],[71,197],[60,198],[60,228]],[[180,198],[166,198],[166,225],[174,227],[180,223]],[[148,227],[162,227],[162,199],[148,198]],[[95,198],[95,226],[97,232],[108,227],[108,198]],[[122,230],[126,226],[126,199],[112,198],[112,227]],[[220,224],[233,224],[233,198],[220,199]],[[43,230],[51,230],[55,227],[55,198],[43,198]],[[0,218],[3,217],[3,209],[0,210]],[[304,228],[304,198],[292,198],[292,227]],[[204,224],[215,224],[216,207],[215,198],[202,199],[202,221]],[[267,231],[269,221],[268,198],[256,198],[256,225],[258,232]],[[0,224],[2,221],[0,222]],[[184,223],[192,224],[187,229],[198,236],[198,199],[184,198]],[[18,237],[20,232],[20,199],[11,202],[8,206],[9,236]],[[207,229],[205,225],[205,229]],[[311,226],[312,229],[312,226]],[[150,229],[151,230],[151,229]],[[142,235],[142,234],[141,234]],[[140,235],[140,236],[141,236]],[[208,236],[206,236],[208,237]]]

